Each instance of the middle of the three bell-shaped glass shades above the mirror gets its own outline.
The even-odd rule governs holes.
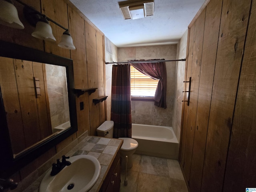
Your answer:
[[[52,34],[52,28],[46,18],[41,18],[36,23],[36,29],[31,35],[35,38],[46,41],[56,41],[55,37]]]

